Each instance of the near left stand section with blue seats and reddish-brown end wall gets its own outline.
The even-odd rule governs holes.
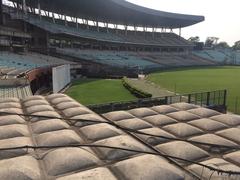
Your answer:
[[[0,52],[0,97],[26,98],[51,86],[51,68],[75,64],[39,53]],[[50,88],[50,87],[49,87]]]

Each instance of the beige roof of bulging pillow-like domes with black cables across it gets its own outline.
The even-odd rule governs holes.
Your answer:
[[[63,94],[0,99],[0,112],[1,179],[239,179],[236,115],[178,103],[100,116]]]

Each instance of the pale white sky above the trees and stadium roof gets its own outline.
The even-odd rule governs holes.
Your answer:
[[[240,40],[240,0],[128,0],[148,8],[205,16],[205,21],[182,29],[182,36],[218,37],[233,45]]]

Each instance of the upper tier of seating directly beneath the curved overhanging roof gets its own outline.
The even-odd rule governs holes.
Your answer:
[[[47,17],[42,17],[42,20],[39,19],[36,15],[29,15],[28,18],[22,18],[11,14],[12,18],[23,19],[24,21],[37,26],[41,29],[44,29],[53,34],[67,34],[82,38],[97,39],[99,41],[110,41],[117,43],[130,43],[130,44],[149,44],[149,45],[163,45],[163,46],[189,46],[189,43],[173,33],[155,33],[154,37],[152,33],[144,32],[131,32],[128,31],[127,35],[125,31],[119,30],[119,33],[113,32],[109,29],[103,31],[97,31],[96,28],[87,28],[83,25],[79,25],[79,28],[76,27],[76,24],[68,23],[64,25],[64,21],[55,20],[53,23],[52,19]]]

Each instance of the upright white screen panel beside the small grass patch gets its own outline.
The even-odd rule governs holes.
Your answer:
[[[70,65],[62,65],[52,69],[53,93],[58,93],[71,82]]]

